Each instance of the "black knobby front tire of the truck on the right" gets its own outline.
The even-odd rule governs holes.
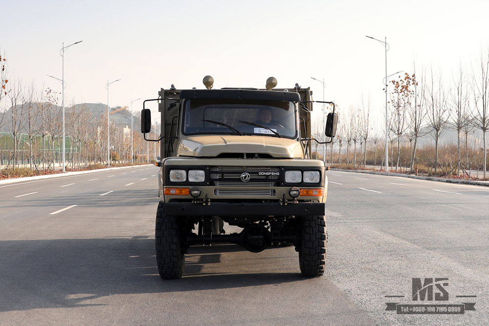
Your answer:
[[[299,266],[303,276],[319,277],[326,266],[326,221],[322,215],[302,217]]]

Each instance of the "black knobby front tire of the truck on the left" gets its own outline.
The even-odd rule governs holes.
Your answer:
[[[159,203],[156,211],[156,263],[162,279],[179,279],[185,269],[185,255],[180,247],[181,224],[174,216],[165,216]]]

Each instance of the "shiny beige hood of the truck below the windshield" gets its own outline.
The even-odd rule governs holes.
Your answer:
[[[269,136],[190,136],[178,142],[177,156],[215,157],[222,153],[262,153],[276,158],[304,158],[299,142]]]

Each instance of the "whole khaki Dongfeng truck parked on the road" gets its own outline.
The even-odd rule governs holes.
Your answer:
[[[156,261],[163,279],[182,277],[192,245],[237,244],[251,252],[294,245],[302,275],[323,275],[326,261],[325,164],[311,160],[309,88],[161,89],[146,102],[161,112]],[[318,102],[318,101],[316,101]],[[328,114],[332,139],[337,114]],[[164,140],[164,141],[163,141]],[[330,143],[329,142],[326,143]],[[224,223],[243,228],[226,234]]]

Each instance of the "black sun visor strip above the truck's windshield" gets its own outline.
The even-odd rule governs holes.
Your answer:
[[[250,89],[182,89],[180,99],[244,99],[299,102],[299,93]]]

